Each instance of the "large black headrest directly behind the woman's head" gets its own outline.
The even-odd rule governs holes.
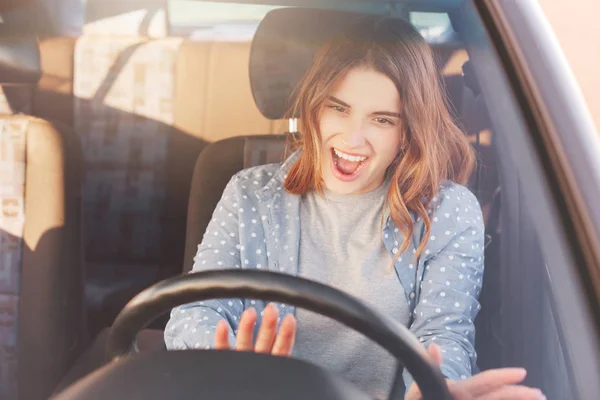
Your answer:
[[[294,101],[290,96],[319,47],[365,18],[381,16],[306,8],[267,13],[250,50],[250,86],[260,112],[269,119],[284,118]]]

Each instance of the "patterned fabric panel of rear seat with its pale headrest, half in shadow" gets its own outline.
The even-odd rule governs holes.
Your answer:
[[[90,1],[74,52],[74,118],[87,174],[86,253],[91,264],[156,264],[164,256],[167,154],[175,61],[165,10],[121,14]]]

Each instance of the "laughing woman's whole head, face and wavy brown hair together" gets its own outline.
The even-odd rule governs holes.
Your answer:
[[[400,253],[412,237],[412,213],[426,229],[420,255],[431,234],[427,205],[442,181],[464,184],[475,157],[448,112],[429,45],[409,24],[388,20],[385,28],[358,25],[316,54],[293,112],[304,151],[285,188],[365,193],[390,177],[397,183],[387,194],[390,216],[405,238]]]

